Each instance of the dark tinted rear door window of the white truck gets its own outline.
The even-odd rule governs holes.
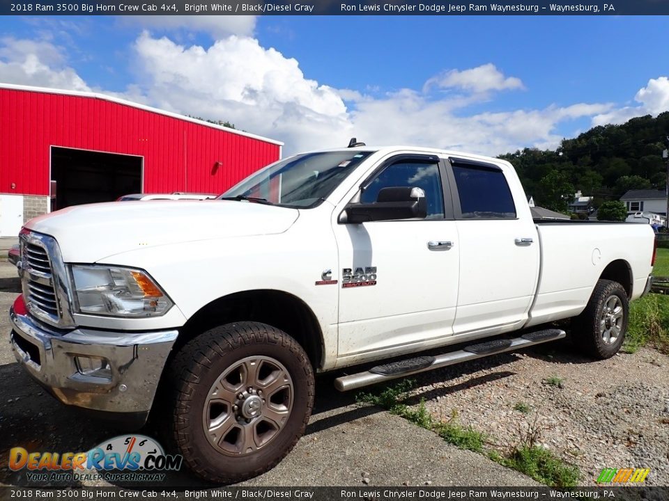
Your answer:
[[[454,165],[453,173],[464,219],[514,219],[516,206],[501,170]]]

